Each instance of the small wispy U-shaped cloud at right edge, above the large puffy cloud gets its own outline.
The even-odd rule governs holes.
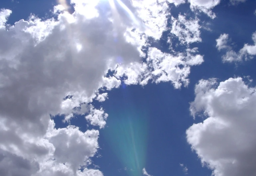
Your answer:
[[[223,62],[241,62],[243,59],[252,59],[256,55],[256,31],[252,34],[254,45],[244,44],[243,48],[235,52],[228,44],[228,34],[221,34],[216,39],[216,47],[218,50],[226,49],[226,54],[222,56]]]

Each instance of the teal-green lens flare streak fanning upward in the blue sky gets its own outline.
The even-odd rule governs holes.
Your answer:
[[[141,176],[147,153],[148,122],[145,109],[133,107],[109,112],[104,136],[113,152],[127,168],[129,176]]]

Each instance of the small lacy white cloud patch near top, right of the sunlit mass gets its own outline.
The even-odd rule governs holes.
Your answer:
[[[201,42],[199,19],[186,19],[185,16],[179,15],[177,19],[172,17],[171,33],[175,34],[182,44],[191,44]]]

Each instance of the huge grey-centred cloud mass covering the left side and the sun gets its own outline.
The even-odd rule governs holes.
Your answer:
[[[56,129],[54,116],[64,115],[70,123],[76,114],[84,115],[104,128],[108,114],[90,103],[104,101],[105,91],[118,88],[121,80],[127,85],[170,81],[175,88],[189,84],[191,66],[203,62],[197,48],[186,45],[185,52],[167,54],[148,42],[168,30],[167,2],[122,2],[104,11],[100,6],[106,1],[71,0],[70,14],[60,1],[53,8],[56,18],[32,15],[13,26],[6,24],[11,11],[0,11],[0,175],[102,176],[86,168],[99,132],[71,125]],[[194,32],[178,31],[181,42],[199,41],[193,22],[181,22]],[[109,71],[114,74],[107,76]]]

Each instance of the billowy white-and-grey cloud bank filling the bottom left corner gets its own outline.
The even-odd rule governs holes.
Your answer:
[[[53,120],[50,120],[46,134],[39,136],[25,131],[14,122],[12,127],[16,130],[5,122],[1,125],[1,175],[86,175],[85,171],[83,174],[78,169],[86,167],[85,161],[93,156],[98,148],[97,130],[83,133],[73,126],[57,130]],[[98,171],[98,175],[102,173]]]

